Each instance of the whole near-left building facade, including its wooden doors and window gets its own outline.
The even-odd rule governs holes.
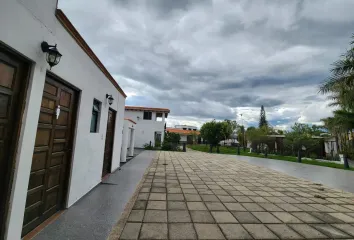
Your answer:
[[[18,240],[119,167],[126,95],[57,0],[3,0],[0,22],[0,239]]]

